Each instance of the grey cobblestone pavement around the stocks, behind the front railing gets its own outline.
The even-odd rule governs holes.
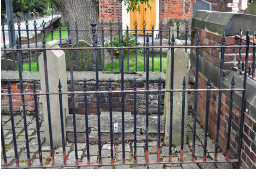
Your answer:
[[[27,154],[26,154],[26,142],[25,142],[25,134],[24,134],[24,122],[22,116],[14,116],[15,122],[15,132],[17,137],[17,146],[18,146],[18,156],[20,166],[27,165]],[[36,123],[35,118],[33,116],[27,116],[28,122],[28,135],[29,135],[29,146],[30,146],[30,157],[32,166],[39,166],[39,154],[38,154],[38,142],[37,142],[37,134],[36,134]],[[6,156],[8,166],[12,166],[15,168],[15,158],[14,158],[14,147],[13,147],[13,139],[12,139],[12,128],[10,116],[2,116],[2,123],[4,128],[4,137],[6,144]],[[187,140],[188,142],[184,145],[184,161],[191,160],[192,156],[192,126],[193,118],[192,116],[188,116],[188,133]],[[51,164],[50,157],[50,146],[46,146],[44,144],[45,136],[44,131],[40,130],[41,143],[42,143],[42,157],[43,164]],[[196,159],[202,160],[203,157],[203,141],[204,141],[204,129],[197,123],[196,124],[196,148],[195,148],[195,156]],[[214,142],[208,137],[207,144],[207,158],[214,158]],[[168,161],[168,150],[169,147],[166,146],[163,141],[160,142],[160,152],[161,152],[161,160]],[[125,160],[128,163],[134,162],[134,156],[132,154],[134,143],[133,141],[127,142],[125,144]],[[2,147],[1,147],[2,150]],[[150,141],[149,142],[149,160],[156,161],[157,159],[157,142]],[[180,145],[173,147],[172,150],[174,153],[172,154],[172,160],[180,160]],[[86,154],[86,143],[78,143],[78,162],[86,163],[87,162],[87,154]],[[74,152],[74,143],[66,142],[66,154],[67,154],[67,165],[75,164],[75,152]],[[122,162],[122,143],[115,144],[115,154],[114,154],[115,162]],[[3,155],[1,154],[1,166],[3,167]],[[221,151],[218,153],[218,160],[224,160],[224,155]],[[63,155],[62,155],[62,146],[54,146],[54,161],[56,165],[63,164]],[[90,144],[90,162],[97,163],[98,162],[98,145]],[[137,141],[137,162],[145,162],[145,142]],[[110,143],[102,143],[102,163],[110,163]],[[74,167],[64,167],[64,168],[74,168]],[[216,169],[216,168],[233,168],[230,163],[200,163],[200,164],[151,164],[151,165],[122,165],[122,166],[84,166],[84,167],[75,167],[80,169]]]

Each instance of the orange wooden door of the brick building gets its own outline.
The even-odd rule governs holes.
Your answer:
[[[130,11],[130,18],[131,18],[131,29],[135,29],[135,25],[134,23],[137,21],[138,26],[137,26],[137,30],[143,30],[143,22],[145,21],[146,23],[146,30],[152,30],[152,26],[154,25],[154,29],[156,28],[156,0],[154,0],[153,2],[150,1],[150,6],[151,6],[151,10],[150,8],[147,7],[147,5],[144,4],[140,4],[140,13],[138,14],[137,11]],[[135,31],[132,31],[135,32]],[[151,31],[146,31],[146,33],[151,33]],[[143,31],[138,31],[138,33],[143,33]]]

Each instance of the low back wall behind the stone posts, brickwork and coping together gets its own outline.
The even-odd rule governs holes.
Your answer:
[[[146,73],[140,72],[142,77],[134,74],[125,74],[124,75],[124,88],[125,90],[133,90],[133,81],[134,77],[136,77],[137,81],[137,89],[145,89],[146,88]],[[35,79],[37,90],[40,91],[40,76],[39,72],[22,72],[24,79],[24,92],[32,92],[32,82]],[[160,72],[150,72],[150,89],[158,89],[158,80],[159,76],[162,79],[162,88],[165,88],[165,73]],[[84,78],[86,78],[87,90],[95,91],[96,90],[96,81],[95,81],[95,73],[94,72],[74,72],[74,90],[75,91],[83,91],[84,90]],[[112,81],[112,90],[120,90],[121,89],[121,74],[104,74],[103,72],[99,72],[99,86],[100,90],[108,90],[108,79],[111,78]],[[11,92],[18,93],[19,90],[19,78],[18,72],[13,71],[2,71],[2,93],[6,93],[7,90],[7,81],[10,80],[11,84]],[[68,91],[71,91],[70,86],[70,72],[67,72],[67,83],[68,83]],[[56,84],[58,86],[58,84]],[[125,111],[132,112],[133,110],[133,94],[125,94]],[[14,112],[20,112],[22,109],[20,96],[12,96],[13,99],[13,110]],[[38,97],[39,100],[39,97]],[[97,104],[96,104],[96,94],[88,94],[88,113],[96,114],[97,113]],[[72,102],[71,95],[68,95],[68,103],[69,103],[69,112],[72,113]],[[2,113],[9,112],[9,102],[8,96],[2,96],[1,100]],[[34,97],[26,96],[25,97],[25,105],[26,110],[28,112],[34,111]],[[75,95],[75,108],[76,114],[84,114],[84,96],[83,94]],[[149,112],[150,114],[157,114],[158,109],[158,94],[150,94],[149,95]],[[164,93],[161,95],[161,111],[163,113],[164,109]],[[112,94],[112,110],[113,111],[121,111],[121,94],[113,93]],[[108,94],[100,94],[100,112],[109,111],[109,98]],[[145,114],[146,112],[146,94],[137,94],[137,114]]]

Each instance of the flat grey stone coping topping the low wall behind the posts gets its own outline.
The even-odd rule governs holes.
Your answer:
[[[124,82],[134,82],[134,78],[136,78],[136,82],[146,82],[146,72],[138,72],[142,76],[138,74],[128,74],[124,72]],[[19,74],[18,71],[1,71],[1,80],[2,81],[19,81]],[[67,81],[70,82],[70,72],[66,73]],[[74,71],[74,82],[96,81],[96,73],[92,71]],[[158,82],[159,77],[161,77],[161,82],[165,82],[166,74],[164,72],[150,72],[149,73],[149,82]],[[32,81],[40,81],[40,74],[36,71],[23,71],[22,72],[23,81],[32,82]],[[103,73],[99,72],[99,81],[108,81],[110,78],[111,81],[121,82],[121,73],[114,74],[114,73]]]

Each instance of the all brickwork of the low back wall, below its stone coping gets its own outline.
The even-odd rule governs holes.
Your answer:
[[[112,90],[120,90],[120,82],[111,82]],[[20,84],[18,81],[10,82],[11,93],[20,93]],[[75,82],[74,90],[83,91],[84,82]],[[2,81],[2,93],[7,93],[7,82]],[[40,82],[36,82],[37,90],[40,91]],[[24,92],[33,92],[32,82],[23,82]],[[146,87],[145,82],[137,82],[137,89],[144,89]],[[150,82],[150,89],[158,89],[158,82]],[[165,87],[165,84],[162,84],[162,88]],[[133,82],[124,82],[125,90],[133,90]],[[87,82],[87,91],[96,90],[96,82],[88,81]],[[100,82],[100,90],[108,90],[108,82]],[[68,91],[71,91],[70,82],[68,82]],[[134,113],[134,96],[133,94],[125,94],[125,111]],[[97,114],[97,103],[96,103],[96,94],[88,94],[88,113]],[[20,96],[12,96],[13,111],[20,112],[22,111],[22,102]],[[9,100],[8,96],[2,96],[1,98],[1,111],[2,113],[9,112]],[[25,106],[26,111],[34,111],[34,97],[25,96]],[[39,96],[38,96],[38,106],[39,106]],[[68,95],[68,106],[69,112],[72,113],[72,100],[71,95]],[[84,96],[82,94],[75,95],[75,108],[76,114],[84,114]],[[164,109],[164,94],[161,95],[161,110]],[[112,110],[121,111],[121,93],[112,94]],[[100,94],[100,112],[109,111],[109,96],[108,94]],[[158,112],[158,94],[149,94],[149,112],[150,114],[157,114]],[[146,94],[137,94],[137,113],[145,114],[146,113]]]

